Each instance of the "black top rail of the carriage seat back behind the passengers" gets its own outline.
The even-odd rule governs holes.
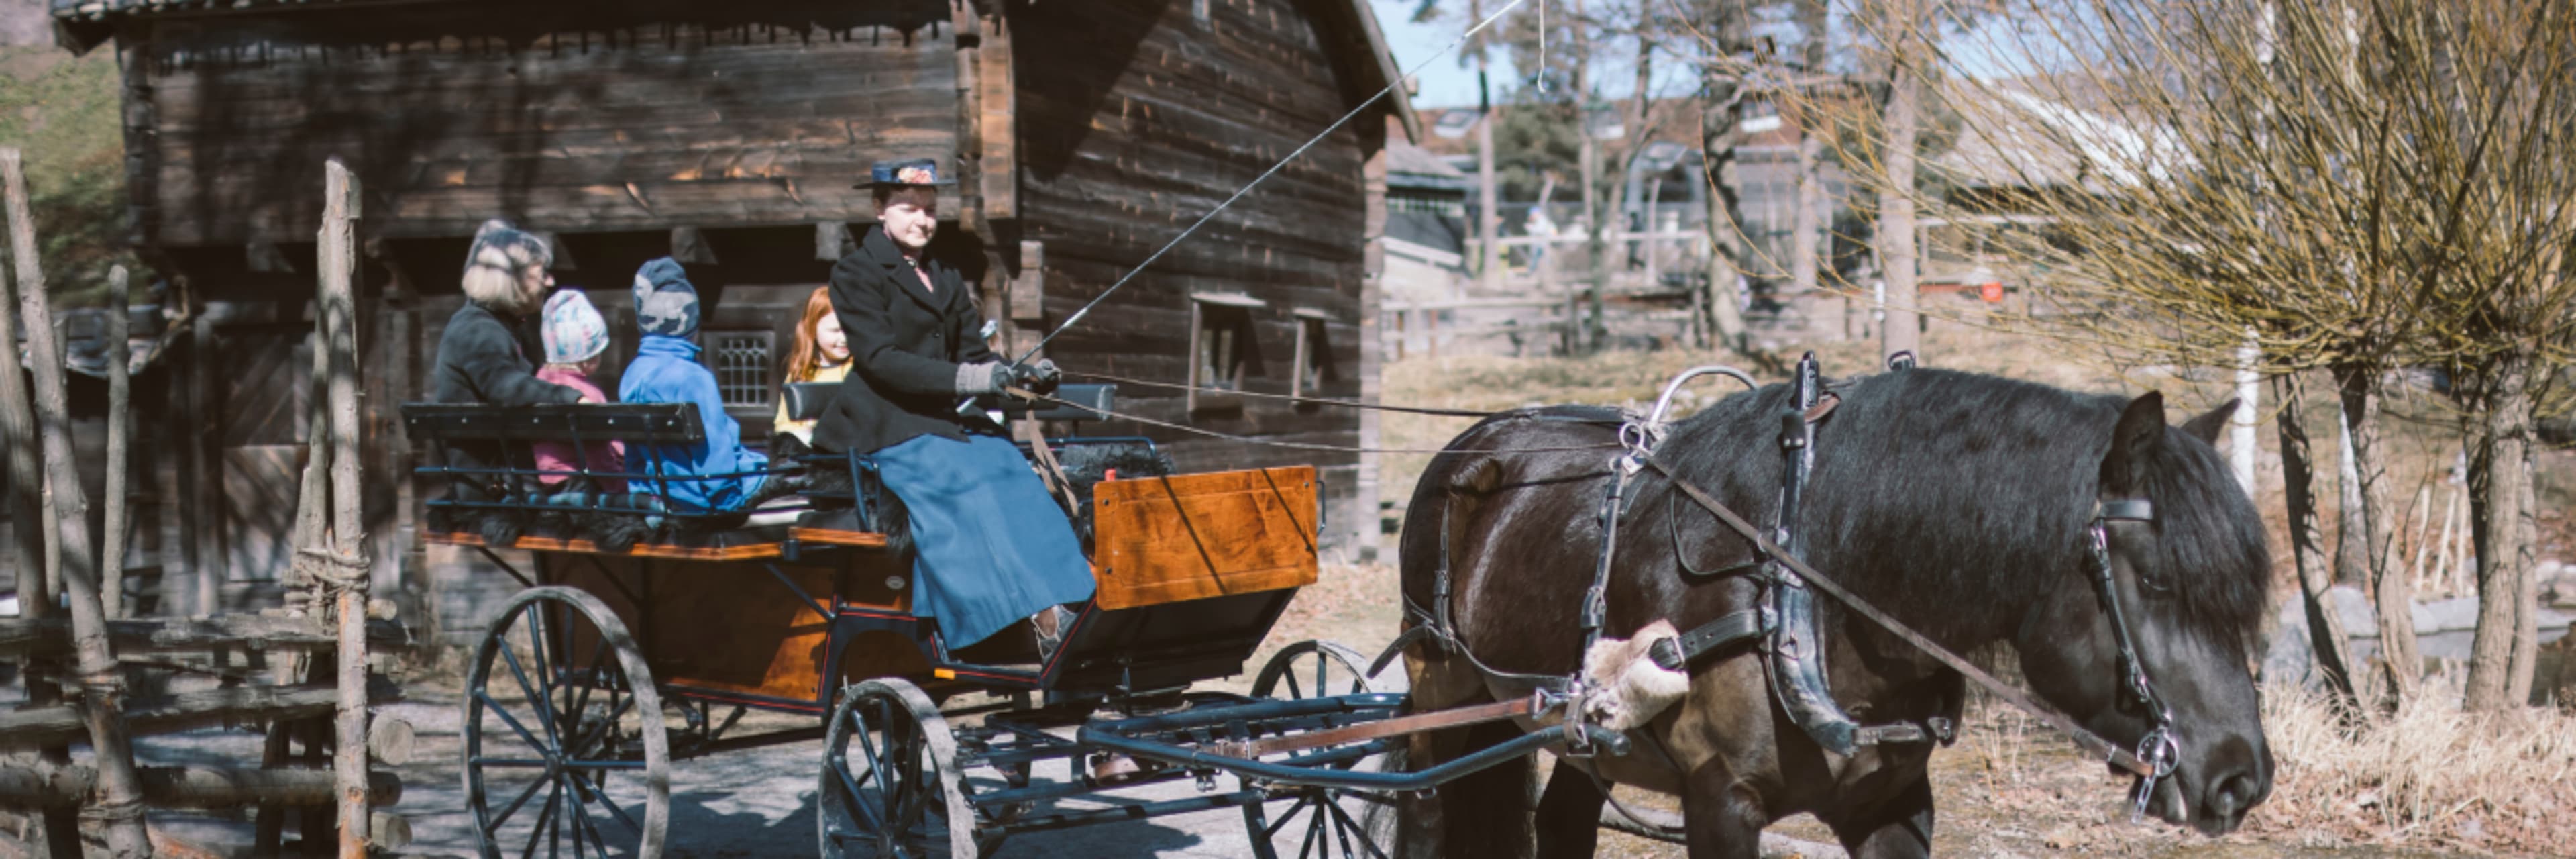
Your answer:
[[[461,405],[404,402],[412,441],[706,441],[690,402]]]

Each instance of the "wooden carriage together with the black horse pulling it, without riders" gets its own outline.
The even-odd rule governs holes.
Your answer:
[[[1404,828],[1409,844],[1517,851],[1528,831],[1486,818],[1522,813],[1528,766],[1497,764],[1543,748],[1558,771],[1538,828],[1561,833],[1558,849],[1589,844],[1605,784],[1620,782],[1682,797],[1692,856],[1749,856],[1780,807],[1819,813],[1855,849],[1927,851],[1924,764],[1953,735],[1965,681],[2130,771],[2133,813],[2221,833],[2262,802],[2269,751],[2236,647],[2259,617],[2267,562],[2259,529],[2241,526],[2254,521],[2251,503],[2208,441],[2233,405],[2174,428],[2156,395],[2123,402],[1942,371],[1826,390],[1806,359],[1793,384],[1667,423],[1680,384],[1710,371],[1752,384],[1731,369],[1692,369],[1643,415],[1535,408],[1461,433],[1417,488],[1414,511],[1430,516],[1406,524],[1409,629],[1376,660],[1332,642],[1288,645],[1249,694],[1190,686],[1239,673],[1296,588],[1316,580],[1309,467],[1146,467],[1066,488],[1066,511],[1090,531],[1097,593],[1054,653],[1023,632],[948,647],[933,619],[912,614],[920,583],[902,537],[878,526],[889,508],[866,457],[804,462],[845,469],[840,498],[809,493],[752,513],[621,506],[652,524],[631,547],[541,526],[510,534],[510,547],[533,552],[533,575],[492,555],[500,531],[433,534],[482,549],[528,586],[492,622],[466,681],[464,779],[482,849],[559,854],[569,841],[574,854],[652,856],[675,758],[824,738],[817,820],[827,856],[981,856],[1015,833],[1221,807],[1242,810],[1255,856],[1278,856],[1275,838],[1298,856],[1388,856],[1394,807],[1422,813]],[[1092,392],[1059,418],[1108,413],[1105,400]],[[2012,439],[2050,444],[2002,449],[1906,431],[1955,426],[1963,402],[1984,402],[1976,415],[2004,420]],[[1839,428],[1819,433],[1834,413]],[[502,449],[701,439],[683,405],[410,405],[404,420],[420,441]],[[2092,441],[2105,431],[2107,454]],[[1765,433],[1777,433],[1785,457],[1731,454],[1731,441]],[[1667,441],[1680,457],[1656,454]],[[1151,446],[1061,439],[1030,457],[1043,464],[1087,444]],[[1862,480],[1873,462],[1940,469],[1945,480],[1917,485],[1937,503],[1878,490]],[[2009,467],[2022,467],[2009,488],[1981,488]],[[533,475],[507,454],[428,472]],[[459,493],[433,506],[448,521],[567,518],[541,493]],[[1801,539],[1819,524],[2007,508],[2030,524],[1901,557],[1868,555],[1883,549],[1868,539]],[[1597,539],[1564,539],[1587,513]],[[1633,537],[1620,537],[1620,521],[1633,521]],[[1844,583],[1808,555],[1839,562]],[[1927,573],[1981,575],[1973,591],[1989,598],[1947,604],[1935,635],[1909,627],[1922,617],[1873,606],[1922,601],[1906,588],[1935,580]],[[1839,611],[1819,611],[1806,588]],[[1976,622],[1963,627],[1971,606]],[[2038,702],[1958,655],[1996,642],[2025,655]],[[1834,655],[1842,647],[1878,655]],[[1419,689],[1378,681],[1399,653]],[[1847,704],[1824,673],[1829,660],[1875,691]],[[747,709],[822,725],[742,735]],[[1651,753],[1631,756],[1631,738]],[[1383,766],[1399,748],[1406,766]],[[1056,761],[1066,779],[1041,779],[1038,764]],[[1783,800],[1747,807],[1731,787],[1741,782],[1728,779],[1759,771]],[[1200,792],[1051,807],[1177,779]],[[1566,825],[1579,833],[1564,836]]]

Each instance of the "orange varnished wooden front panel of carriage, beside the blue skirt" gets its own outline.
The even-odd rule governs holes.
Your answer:
[[[1311,464],[1105,480],[1092,503],[1100,609],[1301,588],[1316,578]]]

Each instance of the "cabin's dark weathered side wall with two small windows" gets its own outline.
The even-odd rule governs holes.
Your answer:
[[[1036,3],[1012,10],[1018,67],[1020,227],[1046,245],[1046,322],[1108,289],[1182,227],[1293,152],[1376,88],[1327,46],[1327,3],[1188,0]],[[1030,34],[1046,34],[1033,39]],[[1345,52],[1347,54],[1347,52]],[[1188,377],[1190,294],[1249,294],[1255,364],[1247,390],[1291,387],[1296,310],[1329,317],[1327,397],[1360,395],[1363,163],[1383,142],[1378,119],[1352,121],[1236,201],[1136,276],[1048,351],[1072,369],[1141,379]],[[1190,413],[1180,392],[1121,390],[1123,410],[1224,433],[1355,446],[1360,420],[1340,408],[1244,400]],[[1146,431],[1182,469],[1316,464],[1345,537],[1355,454],[1247,446]],[[1373,511],[1368,511],[1373,513]],[[1373,516],[1370,516],[1373,521]],[[1340,539],[1334,539],[1340,544]]]

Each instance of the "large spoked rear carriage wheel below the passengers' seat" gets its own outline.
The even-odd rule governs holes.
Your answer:
[[[626,624],[574,588],[528,588],[466,676],[466,805],[487,859],[662,856],[670,745]]]

